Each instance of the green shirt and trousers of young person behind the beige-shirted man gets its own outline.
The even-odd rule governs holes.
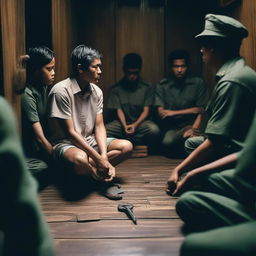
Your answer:
[[[41,150],[35,137],[32,124],[40,122],[47,135],[47,97],[48,87],[27,85],[21,97],[22,103],[22,142],[29,170],[38,179],[40,187],[48,182],[49,156]]]

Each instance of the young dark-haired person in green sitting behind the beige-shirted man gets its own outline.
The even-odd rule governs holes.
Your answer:
[[[22,141],[29,170],[39,189],[49,182],[52,145],[47,132],[47,98],[54,82],[54,53],[45,46],[30,48],[26,60],[27,82],[21,97]]]

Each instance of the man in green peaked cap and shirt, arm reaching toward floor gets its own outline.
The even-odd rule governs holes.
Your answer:
[[[171,173],[169,193],[175,190],[182,174],[243,148],[256,109],[256,72],[239,54],[247,35],[247,29],[233,18],[206,15],[205,30],[196,38],[202,45],[203,62],[217,72],[217,83],[206,109],[207,137],[188,140],[189,147],[197,147]]]

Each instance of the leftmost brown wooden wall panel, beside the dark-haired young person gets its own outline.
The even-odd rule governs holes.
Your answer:
[[[1,0],[0,4],[3,92],[20,122],[20,97],[16,89],[23,87],[25,82],[25,72],[19,63],[19,56],[25,54],[25,3],[24,0]]]

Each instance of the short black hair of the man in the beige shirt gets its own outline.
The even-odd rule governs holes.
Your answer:
[[[102,54],[83,44],[78,45],[71,53],[72,76],[78,75],[77,65],[81,65],[81,69],[88,70],[94,59],[101,59]]]

